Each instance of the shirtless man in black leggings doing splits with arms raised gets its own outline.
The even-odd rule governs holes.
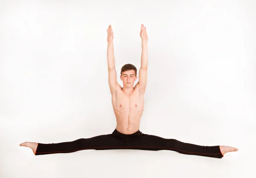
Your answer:
[[[75,141],[56,144],[24,142],[20,146],[31,148],[35,155],[68,153],[83,149],[142,149],[152,151],[172,150],[187,155],[222,158],[227,152],[238,151],[238,149],[230,146],[200,146],[140,132],[140,118],[143,114],[144,93],[147,85],[147,30],[142,24],[140,28],[140,37],[142,39],[140,77],[135,87],[134,81],[137,79],[137,69],[132,64],[125,64],[121,69],[120,78],[123,87],[117,83],[111,25],[108,27],[107,32],[108,83],[112,95],[113,111],[116,116],[116,129],[112,134],[99,135],[93,138],[80,138]]]

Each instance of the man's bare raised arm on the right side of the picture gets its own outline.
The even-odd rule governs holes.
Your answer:
[[[140,93],[144,94],[147,85],[148,72],[148,34],[146,27],[142,24],[140,27],[140,37],[142,40],[141,66],[139,71]]]

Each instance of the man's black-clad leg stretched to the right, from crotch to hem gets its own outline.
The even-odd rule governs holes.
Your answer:
[[[129,149],[152,151],[172,150],[186,155],[199,155],[212,158],[222,158],[224,156],[220,146],[200,146],[184,143],[176,139],[161,138],[143,133],[135,137],[128,137],[128,147]]]

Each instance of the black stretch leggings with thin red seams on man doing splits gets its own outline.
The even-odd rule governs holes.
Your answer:
[[[199,155],[212,158],[222,158],[220,146],[200,146],[183,143],[175,139],[161,138],[155,135],[143,134],[138,130],[133,134],[122,134],[116,129],[112,134],[99,135],[92,138],[80,138],[75,141],[56,144],[41,144],[35,151],[35,155],[53,153],[69,153],[83,149],[142,149],[142,150],[172,150],[186,155]]]

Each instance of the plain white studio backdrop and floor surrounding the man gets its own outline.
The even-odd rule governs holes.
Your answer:
[[[0,0],[0,178],[255,177],[255,11],[254,0]],[[140,69],[142,23],[149,60],[140,131],[239,151],[35,156],[20,147],[113,132],[107,29],[122,86],[124,64]]]

